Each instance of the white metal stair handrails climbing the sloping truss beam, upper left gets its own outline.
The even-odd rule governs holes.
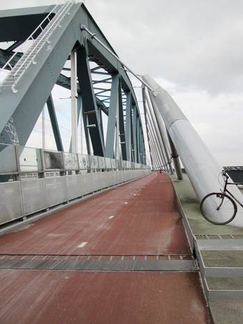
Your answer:
[[[56,28],[60,26],[60,22],[65,17],[65,14],[68,12],[69,8],[71,8],[71,6],[74,3],[76,3],[75,0],[62,0],[58,5],[56,5],[53,8],[53,10],[51,10],[51,12],[49,12],[49,15],[47,15],[47,17],[45,17],[41,24],[37,26],[37,28],[35,28],[35,31],[33,31],[33,33],[28,37],[28,39],[20,48],[22,49],[29,40],[34,40],[33,35],[37,32],[39,28],[42,30],[40,35],[36,38],[35,42],[28,48],[28,50],[25,53],[23,51],[24,55],[22,56],[22,58],[19,59],[17,64],[14,67],[10,65],[11,60],[15,58],[15,56],[17,56],[18,54],[18,52],[16,51],[15,54],[8,60],[8,62],[6,62],[6,64],[1,68],[0,74],[2,71],[6,71],[6,69],[8,68],[10,68],[10,72],[8,73],[6,78],[4,78],[4,80],[1,82],[0,87],[12,87],[12,92],[17,92],[17,90],[15,89],[15,85],[19,82],[20,78],[22,78],[24,72],[26,71],[26,69],[28,69],[31,63],[35,65],[35,57],[40,52],[44,44],[46,42],[49,42],[48,38],[50,37],[50,35],[52,35],[53,31],[55,31]],[[57,11],[56,8],[58,8],[59,6],[62,7],[60,8],[60,10]],[[50,19],[49,17],[53,12],[56,13],[56,16],[53,17],[53,19]],[[48,23],[48,29],[43,29],[42,24],[44,24],[44,22],[46,22],[47,20],[49,20],[49,23],[51,22],[51,24]]]

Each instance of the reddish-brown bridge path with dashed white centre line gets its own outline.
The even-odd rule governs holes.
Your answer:
[[[0,237],[1,323],[210,323],[165,173]]]

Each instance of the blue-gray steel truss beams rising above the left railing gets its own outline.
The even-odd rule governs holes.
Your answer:
[[[44,6],[0,12],[0,26],[3,27],[0,28],[1,42],[16,42],[16,40],[24,42],[33,32],[33,40],[37,42],[43,33],[47,35],[48,31],[46,42],[42,42],[42,49],[37,51],[33,45],[33,51],[36,50],[36,54],[30,56],[31,64],[28,69],[21,72],[20,78],[19,74],[18,79],[15,77],[15,80],[19,80],[19,82],[15,83],[15,80],[9,77],[6,79],[8,83],[3,80],[1,84],[0,143],[24,146],[44,104],[48,102],[49,110],[53,112],[53,103],[50,100],[51,90],[56,84],[70,89],[70,80],[62,74],[62,70],[65,69],[64,66],[70,58],[70,53],[75,50],[78,66],[77,91],[83,105],[83,125],[85,126],[88,153],[91,151],[88,143],[90,136],[94,155],[134,162],[145,161],[146,163],[140,112],[135,92],[123,65],[110,54],[115,51],[84,4],[75,3],[75,1],[65,1],[65,3],[67,9],[63,9],[63,5],[55,7],[55,10],[53,10],[54,6]],[[60,17],[58,9],[62,10]],[[50,12],[51,15],[49,15]],[[48,15],[50,22],[48,21],[47,24]],[[45,28],[43,32],[40,32],[40,28],[37,26],[44,18],[46,20],[42,27]],[[106,48],[93,40],[89,34],[81,31],[82,24],[88,26],[92,33],[95,33],[106,45]],[[6,28],[10,25],[18,26],[18,28]],[[52,28],[52,25],[55,28]],[[8,33],[5,33],[6,30]],[[0,51],[0,67],[3,67],[14,53],[15,46],[17,43]],[[26,53],[24,55],[18,53],[14,59],[10,60],[10,65],[17,67],[17,62],[21,62],[24,56]],[[97,67],[90,67],[90,62],[94,62]],[[10,65],[6,67],[6,71],[10,69]],[[10,76],[13,74],[12,71],[9,73]],[[104,76],[103,84],[106,83],[106,87],[103,87],[103,90],[100,89],[101,80],[94,78],[97,74]],[[11,80],[14,80],[13,84],[10,84]],[[112,80],[112,89],[107,87],[110,80]],[[126,103],[124,103],[125,101]],[[80,109],[80,105],[78,106]],[[101,112],[108,115],[106,138],[104,138]],[[51,119],[54,125],[54,115]],[[91,124],[96,127],[87,130],[86,126]],[[53,127],[53,133],[57,148],[61,151],[62,144],[58,127]]]

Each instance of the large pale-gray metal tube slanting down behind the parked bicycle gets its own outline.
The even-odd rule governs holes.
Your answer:
[[[165,89],[150,76],[143,76],[143,79],[153,89],[151,91],[153,99],[199,201],[210,192],[220,192],[222,187],[218,177],[223,168]],[[239,201],[243,201],[242,194],[236,186],[231,186],[230,191]],[[242,226],[243,209],[238,207],[237,215],[231,225]]]

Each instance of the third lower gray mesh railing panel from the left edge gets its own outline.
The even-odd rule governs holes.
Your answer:
[[[46,178],[47,201],[49,207],[67,201],[67,185],[65,177]]]

